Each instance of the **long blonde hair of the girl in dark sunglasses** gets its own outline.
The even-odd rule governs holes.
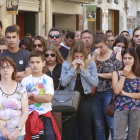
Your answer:
[[[52,45],[52,44],[47,45],[47,46],[44,48],[44,50],[43,50],[44,54],[45,54],[47,51],[52,51],[52,52],[56,55],[56,61],[57,61],[57,63],[58,63],[58,64],[63,64],[64,59],[62,58],[62,56],[61,56],[61,54],[60,54],[60,52],[59,52],[59,50],[57,49],[56,46],[54,46],[54,45]],[[46,69],[46,72],[48,72],[48,63],[47,63],[47,62],[46,62],[46,67],[45,67],[45,69]]]

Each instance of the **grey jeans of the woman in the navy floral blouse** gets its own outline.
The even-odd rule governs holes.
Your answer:
[[[140,127],[140,110],[115,111],[114,140],[124,140],[128,124],[128,140],[137,140]]]

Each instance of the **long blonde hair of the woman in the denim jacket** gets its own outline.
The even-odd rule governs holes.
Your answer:
[[[74,60],[74,54],[75,53],[82,53],[85,57],[85,68],[89,65],[88,60],[88,51],[87,48],[82,40],[75,40],[70,48],[69,56],[67,61],[70,63],[70,67],[72,67],[72,62]]]

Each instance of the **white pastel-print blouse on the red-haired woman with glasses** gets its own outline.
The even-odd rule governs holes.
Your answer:
[[[13,132],[18,126],[22,115],[21,100],[28,99],[26,89],[17,83],[17,88],[13,94],[5,94],[0,89],[0,123],[9,131]],[[19,135],[25,134],[25,127]],[[0,133],[1,136],[1,133]]]

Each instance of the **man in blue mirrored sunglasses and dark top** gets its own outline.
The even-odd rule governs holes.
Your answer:
[[[48,34],[49,44],[53,44],[54,46],[56,46],[58,48],[60,54],[64,58],[64,60],[66,60],[68,57],[68,54],[69,54],[69,50],[60,45],[61,40],[62,40],[62,38],[61,38],[60,30],[55,27],[52,27]]]

